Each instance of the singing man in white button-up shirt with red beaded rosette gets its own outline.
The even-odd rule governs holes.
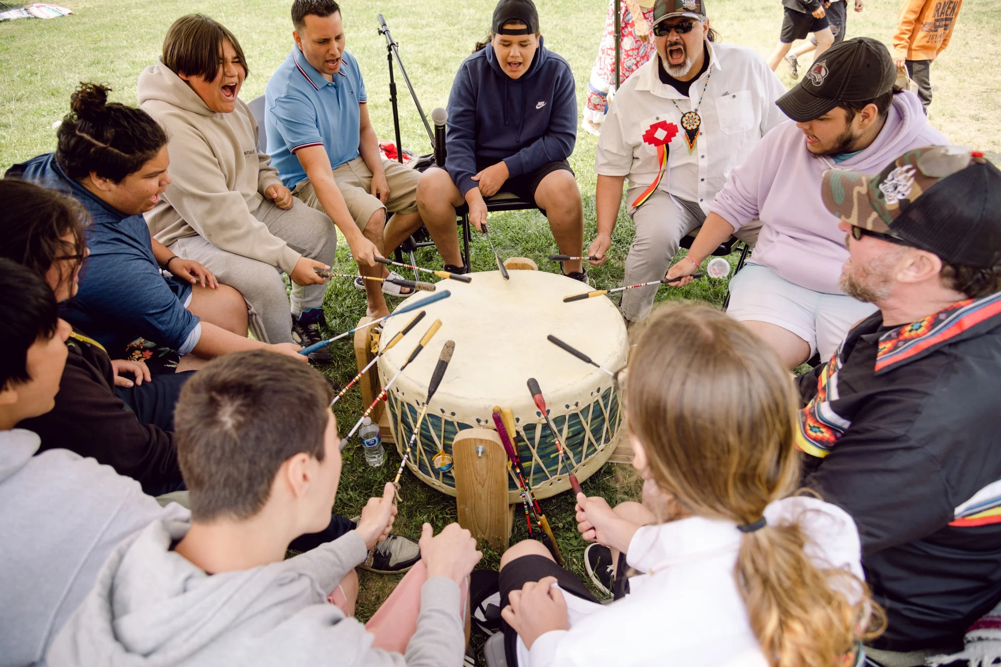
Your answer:
[[[702,0],[658,0],[658,57],[623,84],[598,142],[598,235],[588,255],[603,264],[629,179],[636,239],[626,284],[660,280],[682,237],[698,228],[730,172],[786,119],[786,89],[754,51],[712,41]],[[657,286],[628,290],[623,315],[650,314]]]

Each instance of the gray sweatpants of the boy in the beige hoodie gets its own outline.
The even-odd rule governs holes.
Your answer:
[[[333,265],[337,229],[322,211],[293,197],[292,208],[287,210],[262,201],[253,216],[295,252]],[[268,343],[292,342],[289,297],[280,269],[216,248],[199,235],[177,239],[169,247],[178,257],[203,264],[220,283],[239,290],[249,306],[250,331],[255,338]],[[291,313],[297,316],[303,310],[322,306],[325,291],[325,283],[305,287],[292,283]]]

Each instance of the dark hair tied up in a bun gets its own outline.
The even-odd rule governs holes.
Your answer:
[[[81,83],[58,131],[56,162],[80,181],[91,172],[114,183],[142,168],[167,143],[163,128],[142,109],[108,103],[111,89]]]

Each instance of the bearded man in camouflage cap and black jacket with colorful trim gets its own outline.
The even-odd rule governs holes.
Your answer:
[[[888,617],[870,662],[924,665],[1001,600],[1001,171],[917,148],[827,171],[822,196],[847,233],[841,288],[879,310],[799,378],[804,483],[859,526]]]

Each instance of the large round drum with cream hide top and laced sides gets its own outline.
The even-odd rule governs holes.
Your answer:
[[[569,307],[563,297],[588,288],[565,276],[542,271],[510,274],[511,280],[490,271],[473,274],[469,284],[448,281],[451,297],[427,306],[423,320],[440,319],[441,329],[389,389],[389,426],[402,456],[427,396],[437,351],[444,341],[455,341],[451,362],[406,463],[418,478],[449,495],[455,495],[452,471],[436,470],[432,457],[442,450],[450,455],[452,439],[459,431],[493,429],[493,406],[514,412],[522,466],[539,498],[569,489],[570,472],[581,480],[591,476],[618,442],[623,409],[612,377],[546,338],[553,334],[604,368],[618,370],[629,354],[626,326],[618,309],[608,299],[588,299]],[[424,296],[417,293],[411,298]],[[389,340],[409,319],[387,320],[381,339]],[[412,347],[396,345],[379,359],[383,385]],[[527,385],[531,377],[539,381],[565,446],[562,462],[553,433],[533,402]],[[520,502],[513,475],[509,475],[509,489],[510,502]]]

